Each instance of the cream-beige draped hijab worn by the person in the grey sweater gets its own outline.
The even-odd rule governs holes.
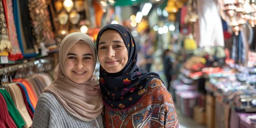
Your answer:
[[[97,77],[83,83],[77,84],[71,81],[65,73],[64,62],[66,56],[76,43],[88,44],[94,57],[94,68],[96,65],[96,49],[92,39],[83,33],[71,33],[63,38],[59,50],[59,63],[54,70],[55,80],[44,92],[51,92],[57,97],[61,105],[73,116],[82,121],[89,122],[101,114],[103,103],[100,93],[99,80]]]

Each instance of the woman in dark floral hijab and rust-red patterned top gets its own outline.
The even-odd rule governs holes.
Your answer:
[[[124,26],[103,27],[96,45],[107,127],[178,126],[171,94],[158,74],[139,70],[134,39]]]

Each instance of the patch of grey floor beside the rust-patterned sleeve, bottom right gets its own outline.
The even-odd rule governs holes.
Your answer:
[[[206,128],[205,125],[196,123],[193,118],[183,115],[179,109],[176,109],[176,112],[179,119],[179,128]]]

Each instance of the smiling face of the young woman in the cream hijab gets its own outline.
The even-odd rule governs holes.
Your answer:
[[[81,84],[88,81],[94,71],[92,49],[88,44],[76,43],[68,52],[64,70],[73,82]]]

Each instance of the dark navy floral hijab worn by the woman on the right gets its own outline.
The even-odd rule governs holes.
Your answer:
[[[157,73],[147,73],[139,70],[136,65],[137,50],[134,39],[124,26],[113,24],[103,27],[97,36],[97,52],[100,37],[108,29],[116,30],[122,35],[129,60],[118,73],[107,73],[100,66],[100,89],[107,108],[114,110],[127,109],[140,101],[151,79],[154,77],[160,79],[160,77]]]

